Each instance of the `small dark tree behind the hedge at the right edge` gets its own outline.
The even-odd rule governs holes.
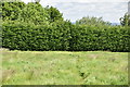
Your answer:
[[[122,26],[130,26],[130,14],[126,13],[123,17],[120,17],[119,20]]]

